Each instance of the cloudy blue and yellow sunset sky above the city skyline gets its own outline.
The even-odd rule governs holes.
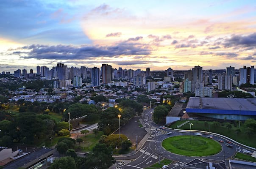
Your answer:
[[[0,72],[256,63],[255,0],[1,0]]]

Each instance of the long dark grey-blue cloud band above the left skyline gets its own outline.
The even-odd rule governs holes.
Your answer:
[[[22,52],[22,49],[30,49],[30,52]],[[122,42],[114,46],[99,46],[99,45],[31,45],[19,48],[18,54],[23,55],[21,58],[35,58],[41,59],[56,59],[56,60],[70,60],[70,59],[86,59],[90,57],[114,57],[120,55],[149,55],[150,49],[141,44],[129,44]],[[16,53],[17,51],[13,52]],[[28,55],[28,56],[25,56]]]

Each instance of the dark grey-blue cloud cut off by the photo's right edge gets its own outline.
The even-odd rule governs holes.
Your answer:
[[[256,46],[256,33],[252,33],[247,36],[242,35],[233,35],[231,38],[225,39],[223,43],[224,47],[233,47],[233,46]]]

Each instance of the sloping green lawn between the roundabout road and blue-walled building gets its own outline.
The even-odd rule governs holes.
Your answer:
[[[197,121],[197,120],[189,120],[189,121],[190,121],[190,123],[193,123],[192,130],[210,131],[212,133],[221,134],[223,136],[227,136],[231,139],[234,139],[235,141],[237,141],[239,143],[256,148],[256,142],[255,142],[256,132],[252,133],[250,136],[246,135],[246,133],[244,132],[245,125],[243,125],[243,123],[241,123],[241,126],[240,126],[241,132],[239,132],[237,134],[237,132],[235,131],[235,129],[237,127],[235,127],[234,125],[231,125],[232,128],[228,129],[226,127],[226,125],[228,123],[221,123],[220,126],[214,126],[213,122],[207,122],[207,125],[206,125],[204,121]],[[177,128],[177,125],[181,125],[184,122],[185,121],[177,121],[168,127]],[[189,130],[190,125],[188,123],[186,123],[185,125],[181,126],[180,128],[177,128],[177,129]]]

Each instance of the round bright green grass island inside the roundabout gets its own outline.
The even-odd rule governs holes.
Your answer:
[[[173,136],[164,139],[162,146],[171,153],[186,156],[208,156],[221,151],[221,145],[202,136]]]

